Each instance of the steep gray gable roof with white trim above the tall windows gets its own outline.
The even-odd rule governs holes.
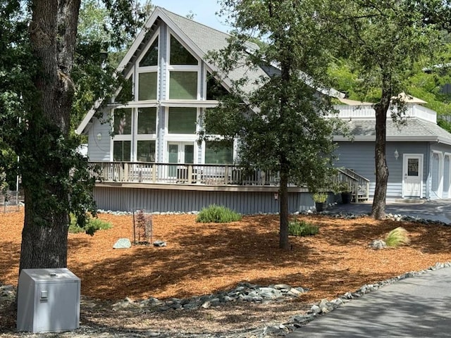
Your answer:
[[[226,46],[228,46],[228,39],[231,35],[167,11],[165,8],[156,7],[150,18],[144,24],[144,27],[140,33],[135,38],[132,46],[130,46],[127,54],[125,54],[123,60],[118,65],[118,72],[128,73],[128,70],[132,68],[132,65],[140,56],[142,49],[147,46],[149,40],[154,36],[154,33],[158,29],[159,25],[161,25],[161,22],[166,23],[175,35],[177,35],[194,52],[194,54],[197,54],[197,56],[202,58],[202,61],[206,63],[209,70],[213,72],[218,71],[218,68],[214,65],[214,63],[211,63],[205,59],[206,55],[209,51],[218,51],[226,48]],[[247,47],[249,52],[259,48],[257,44],[252,42],[247,42]],[[228,74],[228,78],[223,79],[223,82],[226,87],[230,87],[233,81],[240,80],[243,75],[246,75],[249,81],[247,81],[247,84],[242,86],[242,89],[245,92],[251,92],[253,89],[256,89],[259,78],[267,77],[269,73],[274,73],[275,71],[278,71],[276,67],[273,67],[272,69],[264,69],[260,67],[250,68],[243,63],[243,65],[240,65],[232,70]],[[330,96],[344,97],[344,94],[336,91],[335,89],[318,88],[317,90]],[[99,106],[101,106],[102,101],[103,99],[99,99],[95,102],[94,106],[92,106],[92,108],[85,115],[85,118],[83,118],[75,132],[81,134],[85,130],[85,127],[94,116],[94,113],[97,111]]]

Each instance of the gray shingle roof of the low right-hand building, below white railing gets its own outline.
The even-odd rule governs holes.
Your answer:
[[[451,134],[435,123],[421,118],[407,118],[399,125],[387,119],[387,141],[442,142],[451,144]],[[352,119],[347,126],[356,141],[373,141],[376,139],[376,120]],[[339,140],[342,137],[335,137]]]

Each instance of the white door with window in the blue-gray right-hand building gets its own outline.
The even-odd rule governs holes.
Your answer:
[[[402,156],[402,171],[402,196],[421,198],[423,155],[404,154]]]

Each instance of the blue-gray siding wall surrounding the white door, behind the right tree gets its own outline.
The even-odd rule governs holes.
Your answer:
[[[370,180],[369,195],[374,196],[376,187],[376,167],[374,160],[374,142],[338,142],[335,151],[338,156],[337,167],[354,170],[359,175]],[[395,158],[395,151],[399,157]],[[402,198],[402,155],[423,154],[423,198],[426,197],[426,182],[429,168],[429,146],[426,142],[387,142],[386,158],[388,165],[387,198]]]

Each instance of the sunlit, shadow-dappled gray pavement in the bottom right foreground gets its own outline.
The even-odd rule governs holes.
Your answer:
[[[451,268],[390,284],[285,338],[451,337]]]

